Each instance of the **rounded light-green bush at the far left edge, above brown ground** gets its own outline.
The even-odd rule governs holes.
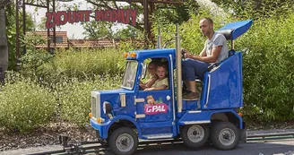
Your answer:
[[[21,133],[47,124],[56,110],[55,96],[48,89],[20,76],[8,78],[0,100],[0,126]]]

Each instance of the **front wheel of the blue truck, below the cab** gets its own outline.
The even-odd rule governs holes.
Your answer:
[[[131,128],[121,127],[109,138],[109,148],[117,155],[131,155],[138,147],[138,136]]]

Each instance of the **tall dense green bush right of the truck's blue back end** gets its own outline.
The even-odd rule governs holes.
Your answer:
[[[243,58],[244,102],[249,116],[262,120],[294,118],[294,14],[255,21],[237,40]],[[255,117],[256,118],[256,117]]]

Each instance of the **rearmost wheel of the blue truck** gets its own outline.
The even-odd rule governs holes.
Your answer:
[[[223,151],[234,149],[240,139],[240,133],[236,125],[230,122],[217,122],[212,125],[212,144]]]

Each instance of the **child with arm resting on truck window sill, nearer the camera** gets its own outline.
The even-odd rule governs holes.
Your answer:
[[[156,74],[159,79],[151,86],[151,88],[146,88],[145,91],[169,89],[169,79],[167,77],[168,66],[165,64],[158,65],[156,68]]]

